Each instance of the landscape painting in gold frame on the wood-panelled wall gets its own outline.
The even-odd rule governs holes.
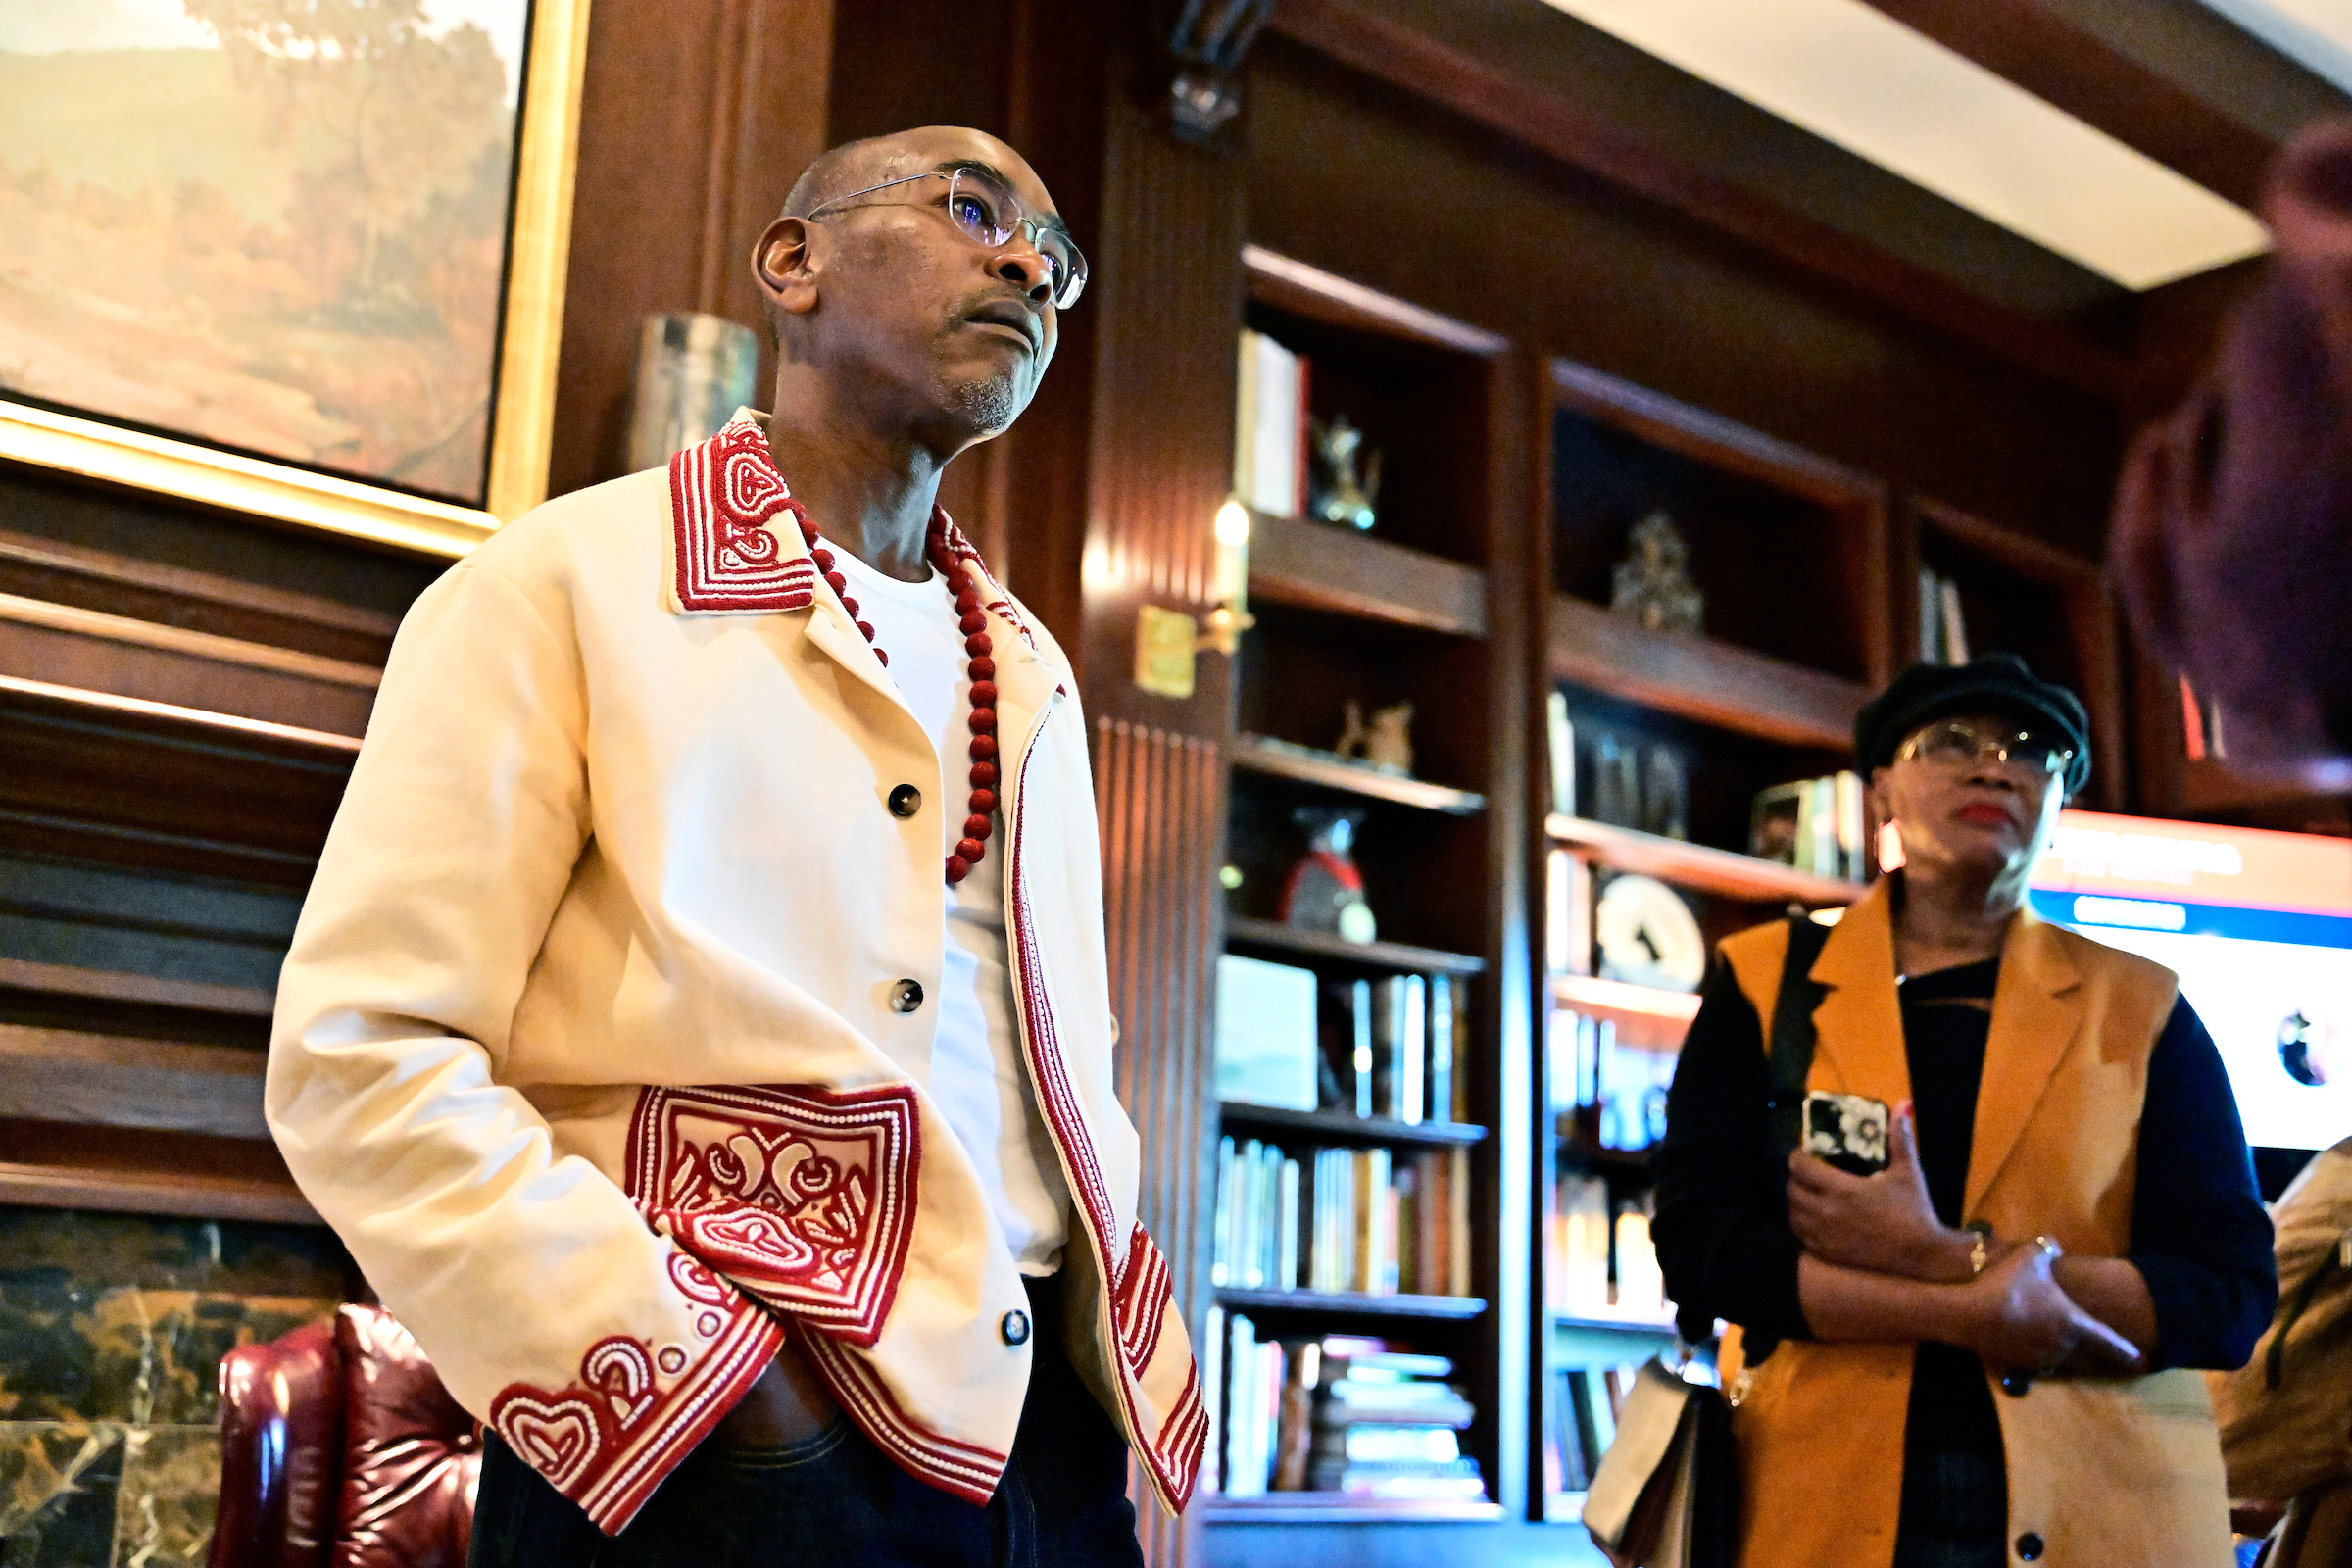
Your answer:
[[[0,0],[0,461],[461,555],[546,496],[588,0]]]

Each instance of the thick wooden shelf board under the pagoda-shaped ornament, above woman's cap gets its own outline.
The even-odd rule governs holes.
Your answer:
[[[1870,686],[1712,637],[1653,632],[1613,611],[1552,595],[1552,679],[1759,741],[1846,752]]]

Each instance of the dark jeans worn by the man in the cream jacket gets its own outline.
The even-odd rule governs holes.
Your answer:
[[[783,1448],[706,1441],[604,1537],[489,1436],[468,1568],[1141,1568],[1127,1439],[1063,1352],[1061,1279],[1028,1286],[1028,1401],[985,1507],[915,1481],[837,1418]]]

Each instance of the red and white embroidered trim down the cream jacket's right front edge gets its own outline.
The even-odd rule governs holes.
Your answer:
[[[1200,1462],[1209,1443],[1209,1410],[1200,1389],[1200,1363],[1183,1354],[1183,1324],[1176,1314],[1167,1258],[1136,1222],[1120,1248],[1117,1220],[1110,1204],[1110,1185],[1103,1180],[1101,1159],[1094,1154],[1094,1135],[1087,1131],[1077,1088],[1063,1060],[1058,1030],[1054,1027],[1054,1004],[1044,985],[1044,959],[1037,952],[1035,924],[1030,917],[1028,865],[1021,856],[1023,806],[1028,802],[1028,766],[1037,748],[1021,759],[1021,778],[1014,783],[1007,820],[1004,853],[1011,860],[1011,898],[1004,910],[1007,947],[1014,983],[1021,1001],[1021,1044],[1028,1053],[1030,1081],[1037,1084],[1037,1110],[1044,1112],[1047,1131],[1061,1145],[1070,1173],[1070,1197],[1075,1211],[1094,1244],[1094,1255],[1110,1274],[1110,1331],[1117,1345],[1117,1396],[1136,1458],[1143,1460],[1152,1488],[1171,1514],[1181,1514],[1200,1479]],[[1162,1347],[1169,1326],[1178,1328],[1176,1347],[1183,1354],[1183,1382],[1167,1399],[1164,1389],[1176,1368],[1164,1366]],[[1150,1392],[1160,1387],[1160,1394]],[[1157,1406],[1157,1399],[1167,1399]],[[1157,1408],[1155,1408],[1157,1406]]]

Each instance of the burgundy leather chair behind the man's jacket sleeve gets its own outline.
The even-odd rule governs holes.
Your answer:
[[[409,1331],[341,1307],[221,1359],[207,1568],[463,1568],[482,1434]]]

